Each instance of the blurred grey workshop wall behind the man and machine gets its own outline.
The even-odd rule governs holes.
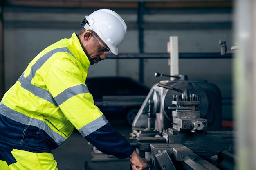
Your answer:
[[[16,82],[27,64],[50,44],[79,33],[80,22],[95,8],[4,7],[4,90]],[[137,9],[113,9],[123,17],[128,30],[119,53],[166,53],[170,36],[178,36],[179,52],[220,52],[219,40],[233,46],[232,8],[145,9],[143,46],[139,45]],[[144,84],[151,87],[169,74],[168,59],[144,59]],[[179,72],[190,80],[206,79],[218,85],[222,96],[232,96],[232,59],[180,59]],[[139,80],[139,59],[108,59],[93,65],[88,76],[128,76]]]

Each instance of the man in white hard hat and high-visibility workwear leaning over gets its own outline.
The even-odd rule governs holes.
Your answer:
[[[88,68],[117,55],[126,24],[114,11],[94,11],[82,31],[40,52],[0,102],[0,170],[57,170],[51,150],[74,128],[103,153],[148,165],[94,105],[85,85]]]

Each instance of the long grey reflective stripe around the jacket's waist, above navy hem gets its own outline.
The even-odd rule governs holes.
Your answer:
[[[14,111],[4,105],[2,102],[0,102],[0,110],[2,111],[0,114],[6,116],[7,118],[10,118],[12,120],[15,120],[16,122],[36,126],[39,129],[42,129],[45,131],[58,145],[61,145],[63,142],[65,142],[65,138],[55,131],[53,131],[44,121],[31,118],[29,116],[26,116],[18,111]]]

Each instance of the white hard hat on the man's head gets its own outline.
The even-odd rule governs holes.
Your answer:
[[[99,9],[85,18],[89,25],[85,23],[83,27],[93,30],[106,43],[110,51],[117,55],[117,47],[124,41],[127,29],[120,15],[110,9]]]

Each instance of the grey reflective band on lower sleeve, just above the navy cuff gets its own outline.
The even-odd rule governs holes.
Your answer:
[[[89,124],[86,124],[78,131],[81,133],[83,137],[85,137],[87,135],[90,135],[92,132],[96,131],[97,129],[100,129],[102,126],[106,125],[107,123],[108,123],[108,120],[105,118],[104,115],[102,115],[101,117],[95,119]]]

